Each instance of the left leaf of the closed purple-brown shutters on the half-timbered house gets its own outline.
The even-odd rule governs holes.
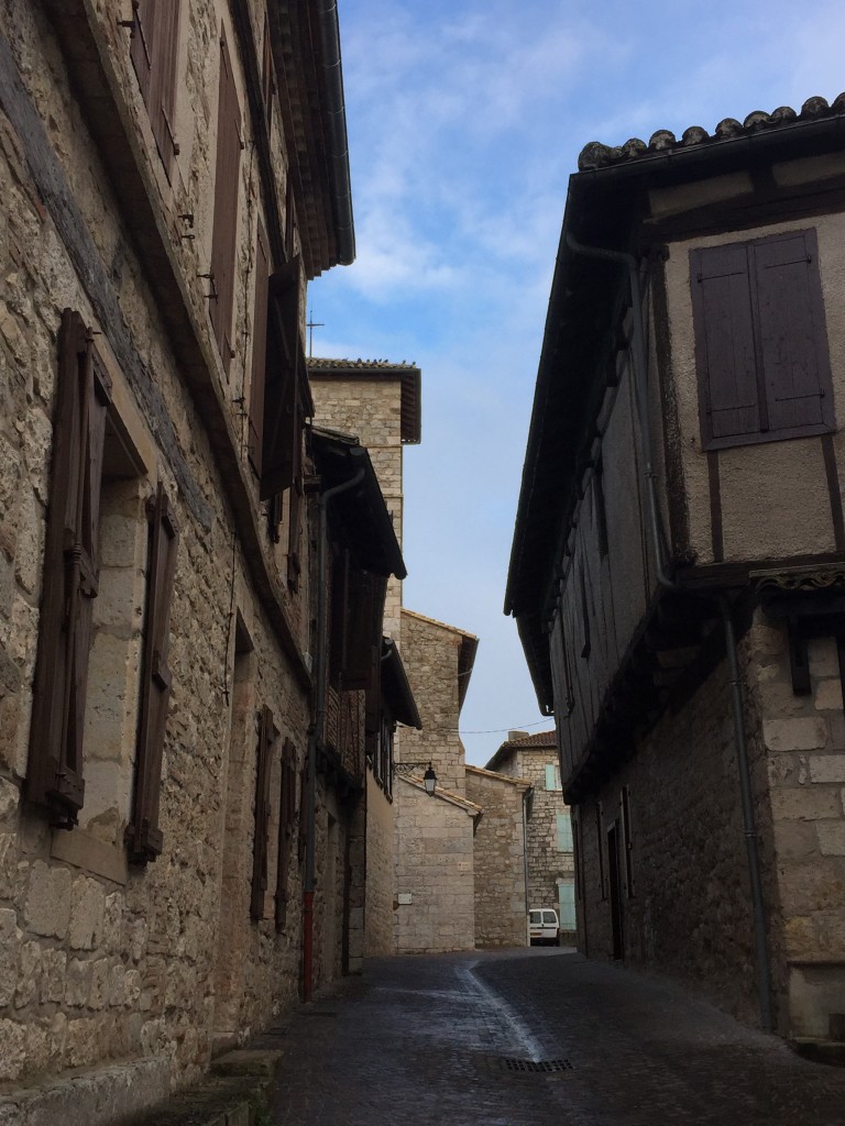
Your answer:
[[[692,251],[702,440],[757,434],[760,406],[745,244]]]

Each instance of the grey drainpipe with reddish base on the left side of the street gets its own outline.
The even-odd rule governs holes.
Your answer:
[[[363,450],[362,450],[363,453]],[[353,455],[355,450],[353,450]],[[317,741],[326,723],[326,547],[328,543],[329,501],[339,493],[354,489],[364,480],[362,466],[354,477],[333,489],[327,489],[320,497],[320,521],[317,537],[317,660],[314,680],[317,697],[314,720],[308,736],[306,802],[305,811],[305,887],[302,903],[302,1000],[313,995],[314,966],[314,888],[317,844]]]

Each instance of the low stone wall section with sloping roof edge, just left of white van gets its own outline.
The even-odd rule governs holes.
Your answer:
[[[528,783],[466,767],[466,797],[483,810],[473,843],[475,946],[525,946],[528,908],[524,801]]]

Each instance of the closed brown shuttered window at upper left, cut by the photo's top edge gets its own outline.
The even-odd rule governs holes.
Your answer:
[[[169,180],[179,152],[174,140],[179,0],[133,0],[133,8],[130,57]]]

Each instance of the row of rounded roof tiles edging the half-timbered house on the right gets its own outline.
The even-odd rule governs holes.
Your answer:
[[[640,160],[657,153],[690,149],[695,145],[712,145],[720,141],[732,141],[735,137],[749,136],[764,129],[782,128],[799,122],[816,120],[820,117],[835,117],[845,114],[845,92],[838,95],[831,105],[824,98],[808,98],[797,113],[791,106],[779,106],[771,114],[755,109],[742,122],[736,117],[726,117],[713,129],[712,135],[701,125],[691,125],[678,141],[669,129],[657,129],[651,134],[648,144],[639,137],[631,137],[621,145],[606,145],[599,141],[590,141],[581,149],[578,157],[578,171],[586,172],[596,168],[607,168],[629,160]]]

